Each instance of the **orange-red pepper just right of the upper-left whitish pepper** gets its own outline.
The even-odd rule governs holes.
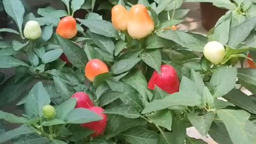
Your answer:
[[[75,37],[77,34],[76,19],[71,16],[61,19],[56,33],[67,39]]]

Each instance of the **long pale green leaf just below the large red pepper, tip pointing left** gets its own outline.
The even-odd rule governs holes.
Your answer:
[[[167,95],[162,100],[154,100],[150,102],[145,109],[141,112],[142,114],[151,113],[155,110],[162,110],[172,106],[198,106],[202,102],[199,95],[194,93],[178,92]]]

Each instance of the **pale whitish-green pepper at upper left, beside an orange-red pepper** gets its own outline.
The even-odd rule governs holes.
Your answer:
[[[37,39],[42,35],[42,29],[37,21],[30,20],[26,23],[23,33],[28,39]]]

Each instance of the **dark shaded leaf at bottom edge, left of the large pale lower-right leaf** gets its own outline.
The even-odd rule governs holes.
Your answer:
[[[230,140],[225,125],[220,121],[212,123],[209,134],[211,135],[212,139],[218,143],[233,144],[233,142]]]

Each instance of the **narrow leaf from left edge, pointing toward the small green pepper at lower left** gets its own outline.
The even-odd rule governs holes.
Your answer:
[[[10,113],[5,113],[4,111],[0,110],[0,119],[4,119],[5,121],[9,123],[19,123],[24,124],[28,123],[29,120],[25,117],[18,117]]]

